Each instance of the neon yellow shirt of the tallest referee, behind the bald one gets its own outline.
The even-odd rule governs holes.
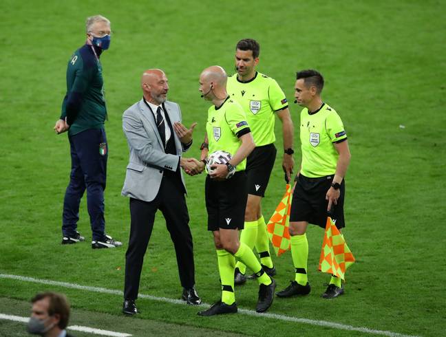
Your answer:
[[[288,107],[284,91],[277,82],[259,72],[251,80],[241,82],[234,74],[228,78],[226,90],[246,112],[255,146],[275,142],[275,112]]]

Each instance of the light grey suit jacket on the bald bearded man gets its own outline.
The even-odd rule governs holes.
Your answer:
[[[172,125],[181,122],[181,110],[177,103],[166,101],[162,106]],[[155,117],[143,99],[124,112],[123,130],[129,144],[130,157],[121,194],[151,202],[158,194],[164,170],[181,170],[180,156],[187,151],[187,147],[173,131],[171,137],[175,140],[176,155],[164,152]],[[182,172],[180,175],[185,190]]]

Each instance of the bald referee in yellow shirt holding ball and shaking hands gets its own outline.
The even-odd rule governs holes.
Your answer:
[[[226,81],[226,72],[219,66],[207,67],[200,75],[202,98],[213,103],[208,110],[205,142],[209,142],[211,153],[226,151],[232,155],[230,160],[222,164],[213,164],[206,176],[204,193],[208,230],[213,232],[217,251],[222,297],[209,309],[199,312],[200,316],[237,312],[233,289],[235,258],[243,261],[256,273],[259,283],[255,308],[257,312],[266,312],[270,307],[276,287],[274,279],[266,274],[251,248],[239,241],[247,198],[246,157],[255,144],[245,112],[226,92]],[[204,170],[205,155],[202,152],[203,164],[200,171]]]

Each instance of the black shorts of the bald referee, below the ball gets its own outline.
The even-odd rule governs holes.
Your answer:
[[[228,180],[213,180],[209,175],[204,184],[208,230],[244,228],[248,192],[245,171],[235,172]]]

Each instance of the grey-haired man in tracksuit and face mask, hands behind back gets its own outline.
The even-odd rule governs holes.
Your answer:
[[[62,244],[84,241],[76,230],[79,204],[85,189],[92,226],[92,248],[122,246],[105,234],[104,190],[107,174],[107,138],[102,67],[99,56],[110,44],[110,21],[96,15],[87,19],[87,42],[74,52],[67,66],[67,94],[57,133],[68,131],[72,169],[63,201]]]

